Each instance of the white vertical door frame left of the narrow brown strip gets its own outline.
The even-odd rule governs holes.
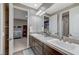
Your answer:
[[[1,55],[3,55],[3,54],[5,54],[5,40],[4,40],[4,5],[3,5],[3,3],[1,3],[0,4],[0,8],[1,8],[1,26],[0,26],[0,28],[1,28],[1,31],[0,31],[0,33],[1,33],[1,51],[0,51],[0,54]]]

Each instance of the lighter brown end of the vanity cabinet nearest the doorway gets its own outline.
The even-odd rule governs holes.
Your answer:
[[[40,41],[38,41],[36,38],[32,36],[30,36],[29,42],[31,49],[34,51],[36,55],[43,54],[43,50],[42,50],[43,43],[41,43]]]

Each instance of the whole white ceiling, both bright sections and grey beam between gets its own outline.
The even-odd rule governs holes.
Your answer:
[[[45,7],[46,13],[49,15],[52,15],[55,12],[58,12],[64,8],[67,8],[74,3],[21,3],[25,6],[28,6],[30,8],[40,10],[41,7]]]

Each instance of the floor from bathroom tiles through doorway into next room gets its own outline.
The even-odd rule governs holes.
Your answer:
[[[34,55],[31,48],[27,49],[27,39],[14,39],[14,48],[15,52],[14,55]]]

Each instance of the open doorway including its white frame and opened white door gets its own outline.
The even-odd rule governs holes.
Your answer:
[[[28,8],[24,8],[12,3],[9,4],[9,34],[10,34],[9,54],[10,55],[33,54],[33,51],[29,49],[28,13],[29,13]]]

